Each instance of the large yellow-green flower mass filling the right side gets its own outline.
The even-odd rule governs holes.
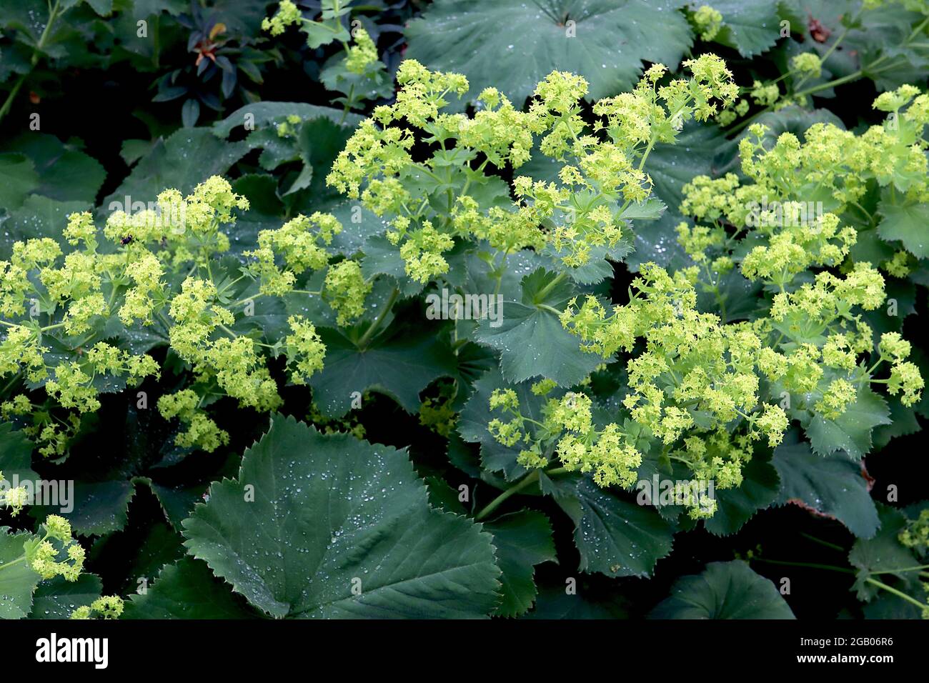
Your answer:
[[[694,479],[739,486],[756,442],[777,446],[791,421],[840,419],[868,401],[871,387],[904,406],[920,400],[909,342],[896,332],[878,340],[866,321],[885,302],[884,278],[855,257],[850,215],[874,185],[892,186],[902,202],[926,199],[925,154],[914,138],[927,123],[926,96],[913,96],[900,88],[879,98],[885,111],[911,104],[896,128],[862,136],[819,124],[804,143],[785,133],[768,149],[765,129],[752,126],[739,148],[747,181],[697,177],[684,188],[681,213],[695,223],[677,235],[692,266],[645,264],[628,303],[608,309],[591,295],[562,312],[584,350],[625,358],[623,407]],[[831,211],[806,211],[809,196],[825,196]],[[726,314],[723,283],[734,277],[763,287],[742,322]],[[701,296],[720,313],[705,312]]]

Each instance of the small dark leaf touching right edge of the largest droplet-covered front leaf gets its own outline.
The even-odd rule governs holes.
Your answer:
[[[488,522],[485,527],[493,534],[501,571],[504,601],[496,616],[515,617],[532,607],[538,590],[535,587],[535,565],[557,562],[552,526],[548,518],[535,510],[520,510]]]

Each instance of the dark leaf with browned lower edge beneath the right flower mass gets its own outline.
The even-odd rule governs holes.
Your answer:
[[[844,454],[817,455],[796,433],[774,452],[780,475],[779,503],[796,502],[841,521],[858,538],[877,532],[877,509],[861,466]]]

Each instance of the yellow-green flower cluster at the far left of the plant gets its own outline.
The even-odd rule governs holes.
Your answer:
[[[204,410],[219,398],[262,412],[279,407],[268,354],[287,355],[302,384],[321,369],[325,347],[298,317],[291,318],[293,335],[270,343],[242,323],[255,300],[288,295],[305,272],[326,269],[325,247],[342,227],[328,214],[296,217],[259,233],[257,249],[246,255],[252,262],[220,266],[226,230],[247,208],[228,181],[210,177],[186,197],[164,190],[152,208],[116,211],[102,230],[89,213],[78,213],[60,244],[14,243],[0,262],[0,377],[13,388],[0,414],[23,423],[40,453],[65,455],[81,416],[99,409],[101,391],[161,376],[152,355],[159,343],[134,341],[142,337],[164,340],[181,366],[172,372],[190,378],[190,387],[158,400],[164,418],[185,426],[177,445],[213,451],[228,442]],[[233,298],[248,287],[255,294]],[[370,289],[354,261],[341,261],[326,278],[340,323],[360,315]],[[6,501],[20,508],[17,493]]]

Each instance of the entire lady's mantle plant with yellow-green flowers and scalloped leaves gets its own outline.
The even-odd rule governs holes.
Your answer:
[[[925,3],[213,5],[0,10],[0,616],[929,615]]]

